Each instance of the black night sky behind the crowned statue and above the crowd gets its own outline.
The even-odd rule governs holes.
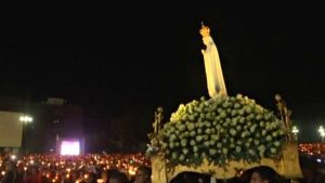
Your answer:
[[[157,106],[167,120],[180,103],[208,96],[204,21],[229,94],[275,109],[281,93],[309,141],[325,126],[324,17],[316,5],[22,13],[1,26],[0,95],[63,97],[83,107],[86,133],[110,138],[121,123],[145,142]]]

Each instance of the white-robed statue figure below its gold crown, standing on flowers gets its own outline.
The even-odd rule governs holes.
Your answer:
[[[209,95],[210,97],[226,95],[217,45],[214,44],[211,36],[205,36],[203,38],[203,42],[207,47],[206,50],[202,50],[202,53],[205,60]]]

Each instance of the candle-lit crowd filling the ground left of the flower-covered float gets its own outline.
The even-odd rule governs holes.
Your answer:
[[[148,183],[150,160],[131,155],[0,156],[1,183]]]

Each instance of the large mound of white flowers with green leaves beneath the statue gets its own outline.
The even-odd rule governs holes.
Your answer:
[[[277,157],[285,131],[273,112],[247,96],[203,96],[181,104],[155,140],[148,152],[164,152],[169,164],[226,166]]]

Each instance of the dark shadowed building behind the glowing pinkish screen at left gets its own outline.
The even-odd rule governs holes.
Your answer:
[[[30,153],[55,153],[60,139],[82,139],[83,109],[63,99],[26,102],[0,96],[0,110],[28,114],[32,122],[24,125],[23,148]]]

